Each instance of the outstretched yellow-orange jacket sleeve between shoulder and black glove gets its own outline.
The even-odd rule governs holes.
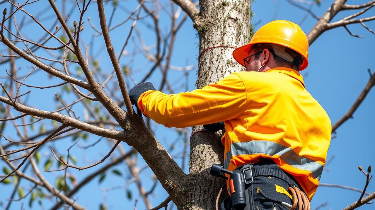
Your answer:
[[[236,73],[192,92],[167,95],[148,90],[138,99],[143,114],[166,127],[217,123],[239,116],[246,106],[245,85]]]

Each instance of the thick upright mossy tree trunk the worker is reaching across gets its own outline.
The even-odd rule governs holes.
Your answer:
[[[241,46],[249,42],[252,33],[251,0],[200,0],[201,25],[199,52],[213,46]],[[198,14],[197,14],[198,15]],[[215,83],[224,76],[243,70],[233,59],[233,48],[215,47],[206,50],[199,58],[197,88]],[[193,127],[193,132],[202,126]],[[179,209],[215,209],[215,201],[220,187],[225,181],[210,175],[213,163],[223,164],[224,150],[219,133],[199,132],[190,142],[189,181],[181,191]],[[225,190],[224,190],[224,193]]]

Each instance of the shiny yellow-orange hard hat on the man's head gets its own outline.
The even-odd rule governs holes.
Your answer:
[[[290,48],[303,57],[300,71],[308,65],[309,41],[301,27],[294,22],[277,20],[263,25],[251,38],[248,44],[236,48],[233,58],[245,67],[243,59],[249,56],[249,51],[254,44],[270,43]]]

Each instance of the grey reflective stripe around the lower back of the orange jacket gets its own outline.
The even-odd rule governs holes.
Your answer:
[[[307,157],[300,156],[291,148],[280,145],[270,141],[249,141],[236,142],[231,144],[231,149],[226,153],[224,168],[227,169],[232,156],[237,155],[251,155],[251,154],[266,154],[266,155],[280,155],[281,160],[297,169],[307,170],[312,175],[320,180],[323,172],[323,166]]]

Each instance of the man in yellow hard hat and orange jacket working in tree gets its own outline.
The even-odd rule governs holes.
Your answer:
[[[247,209],[310,209],[326,163],[331,121],[299,72],[308,66],[308,47],[299,25],[272,21],[234,50],[233,58],[246,71],[171,95],[150,82],[139,83],[130,100],[166,127],[206,124],[216,131],[224,124],[224,169],[252,167]],[[232,209],[229,200],[220,208]]]

